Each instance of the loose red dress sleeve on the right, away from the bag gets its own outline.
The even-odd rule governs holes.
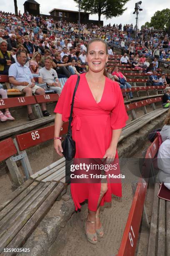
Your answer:
[[[126,113],[125,104],[120,86],[115,83],[115,94],[117,96],[115,108],[111,112],[111,127],[113,130],[125,127],[128,115]]]

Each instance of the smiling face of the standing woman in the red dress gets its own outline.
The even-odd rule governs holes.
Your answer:
[[[100,72],[105,69],[105,64],[108,61],[105,44],[100,41],[91,43],[88,47],[86,61],[92,72]]]

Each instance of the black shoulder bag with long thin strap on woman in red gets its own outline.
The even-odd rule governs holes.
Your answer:
[[[63,149],[63,156],[67,161],[71,161],[75,156],[75,141],[72,139],[72,130],[71,130],[71,121],[72,121],[72,111],[73,111],[73,105],[74,105],[74,97],[75,93],[77,91],[77,87],[80,81],[80,76],[77,77],[77,82],[75,85],[75,90],[73,92],[72,96],[72,103],[71,103],[71,111],[70,111],[70,118],[69,118],[69,125],[68,125],[68,132],[65,136],[64,141],[62,141],[62,149]]]

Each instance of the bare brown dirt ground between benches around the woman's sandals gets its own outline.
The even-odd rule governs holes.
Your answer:
[[[142,157],[141,152],[149,144],[147,142],[141,151],[135,154],[133,160],[128,161],[127,159],[127,162],[121,168],[121,173],[125,175],[125,180],[122,180],[122,198],[112,197],[111,205],[108,204],[101,211],[101,222],[105,229],[105,236],[99,238],[96,245],[87,241],[84,231],[84,221],[87,216],[87,203],[85,203],[82,205],[80,212],[73,214],[67,225],[60,231],[59,236],[50,248],[48,256],[73,256],[77,254],[79,256],[115,256],[117,254],[133,200],[131,182],[138,180],[138,177],[134,175],[138,172],[138,158]],[[149,221],[152,198],[153,187],[150,186],[145,202]],[[136,256],[147,255],[148,236],[149,229],[146,228],[143,221]]]

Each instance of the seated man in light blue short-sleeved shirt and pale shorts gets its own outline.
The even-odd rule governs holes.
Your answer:
[[[12,64],[9,69],[9,81],[13,84],[15,89],[24,92],[25,96],[32,96],[32,92],[38,95],[45,95],[45,90],[35,85],[35,81],[32,77],[29,67],[25,66],[27,56],[25,51],[18,51],[16,53],[17,62]],[[35,116],[32,113],[31,105],[27,106],[28,117],[30,120],[35,120]],[[43,116],[49,116],[47,112],[46,104],[42,103]]]

